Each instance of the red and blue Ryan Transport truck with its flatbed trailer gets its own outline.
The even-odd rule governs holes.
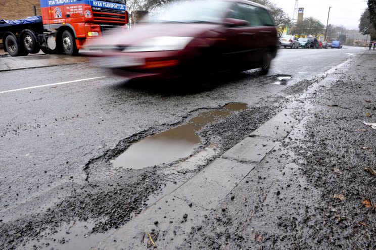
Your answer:
[[[126,28],[125,0],[40,0],[42,16],[1,20],[0,38],[12,57],[36,54],[76,55],[86,40]]]

